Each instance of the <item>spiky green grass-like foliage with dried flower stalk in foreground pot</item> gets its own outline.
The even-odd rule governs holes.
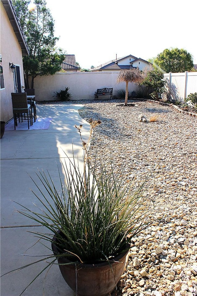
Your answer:
[[[87,142],[82,139],[82,125],[75,125],[82,140],[83,168],[80,168],[79,160],[74,157],[69,164],[62,163],[66,177],[62,182],[58,169],[61,191],[58,191],[48,172],[38,172],[41,185],[32,179],[38,189],[38,193],[33,193],[41,206],[35,206],[35,211],[32,211],[20,205],[22,210],[19,212],[22,215],[49,230],[48,233],[32,232],[39,238],[38,241],[42,241],[42,244],[52,242],[55,235],[58,238],[55,244],[61,253],[43,256],[19,269],[46,261],[42,273],[55,263],[58,256],[66,257],[72,263],[108,261],[110,264],[114,257],[128,250],[132,238],[152,222],[153,204],[143,197],[148,187],[148,177],[134,191],[124,166],[115,174],[112,160],[105,163],[96,159],[97,156],[90,159],[88,147],[93,129],[101,121],[90,119],[89,122],[91,128]]]

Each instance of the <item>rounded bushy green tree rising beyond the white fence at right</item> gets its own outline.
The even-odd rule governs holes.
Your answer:
[[[154,59],[154,66],[159,66],[166,73],[191,71],[194,67],[192,55],[183,48],[164,49]]]

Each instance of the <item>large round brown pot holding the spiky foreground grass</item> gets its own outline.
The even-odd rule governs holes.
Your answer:
[[[56,237],[54,236],[54,241]],[[54,255],[58,248],[52,243]],[[108,262],[98,264],[72,264],[65,257],[58,257],[58,263],[63,278],[77,296],[106,296],[114,290],[124,272],[128,251],[114,258],[111,266]],[[112,271],[113,270],[113,271]]]

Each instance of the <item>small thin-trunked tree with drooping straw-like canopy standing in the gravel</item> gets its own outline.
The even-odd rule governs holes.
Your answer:
[[[141,82],[143,80],[143,74],[139,70],[139,68],[131,68],[129,70],[121,70],[119,76],[117,77],[116,82],[126,82],[126,94],[125,94],[125,102],[123,106],[127,106],[128,100],[128,83],[133,82]]]

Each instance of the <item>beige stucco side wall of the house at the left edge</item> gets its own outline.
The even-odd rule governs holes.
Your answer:
[[[0,115],[1,121],[8,121],[13,117],[11,92],[14,92],[14,79],[9,63],[14,63],[21,67],[22,65],[22,51],[18,43],[18,39],[14,33],[13,27],[8,19],[6,11],[0,1],[0,27],[1,27],[1,42],[0,54],[2,55],[2,66],[5,89],[0,90]],[[23,75],[21,77],[22,85],[24,85]]]

